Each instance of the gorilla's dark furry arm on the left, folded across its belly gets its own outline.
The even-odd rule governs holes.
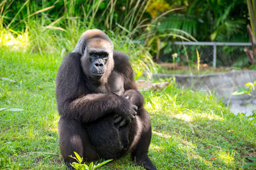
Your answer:
[[[125,97],[85,91],[80,58],[79,53],[69,53],[58,70],[56,99],[60,115],[88,123],[115,112],[129,120],[134,115],[134,106]]]

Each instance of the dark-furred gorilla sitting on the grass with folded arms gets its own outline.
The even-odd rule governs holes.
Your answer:
[[[129,60],[113,51],[99,29],[85,31],[56,76],[61,155],[68,168],[77,152],[88,162],[131,153],[136,166],[156,169],[148,158],[151,125]]]

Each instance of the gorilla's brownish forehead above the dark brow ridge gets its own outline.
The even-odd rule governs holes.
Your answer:
[[[113,49],[112,43],[109,42],[108,40],[102,39],[102,38],[90,39],[87,43],[87,46],[90,49],[106,49],[106,50]]]

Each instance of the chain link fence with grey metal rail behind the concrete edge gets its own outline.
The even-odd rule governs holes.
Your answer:
[[[163,62],[173,62],[173,53],[177,53],[175,62],[195,64],[199,55],[200,64],[213,67],[244,67],[248,66],[248,57],[244,53],[244,48],[251,48],[251,46],[251,43],[176,41],[169,43],[161,50],[159,59]]]

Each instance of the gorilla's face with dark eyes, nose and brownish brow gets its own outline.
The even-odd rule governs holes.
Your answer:
[[[113,46],[106,39],[88,39],[82,57],[84,73],[94,81],[108,78],[113,69]]]

